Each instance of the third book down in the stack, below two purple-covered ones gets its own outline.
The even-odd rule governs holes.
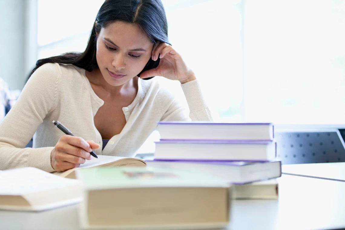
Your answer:
[[[229,183],[244,184],[282,176],[280,161],[172,161],[146,160],[148,167],[165,169],[193,169],[222,178]]]

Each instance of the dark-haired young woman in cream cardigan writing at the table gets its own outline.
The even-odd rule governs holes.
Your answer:
[[[157,121],[211,120],[193,71],[169,45],[160,0],[106,0],[84,52],[38,60],[32,72],[0,124],[0,170],[64,171],[90,160],[91,149],[133,157]],[[174,95],[146,80],[153,76],[181,82],[189,117]],[[35,132],[33,148],[24,148]]]

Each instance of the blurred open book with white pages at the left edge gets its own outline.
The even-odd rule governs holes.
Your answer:
[[[81,200],[77,180],[32,167],[0,171],[0,209],[42,211]]]

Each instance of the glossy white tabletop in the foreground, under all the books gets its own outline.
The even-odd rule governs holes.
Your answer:
[[[234,200],[230,230],[345,228],[345,182],[283,175],[278,200]],[[79,229],[77,206],[0,211],[0,229]]]

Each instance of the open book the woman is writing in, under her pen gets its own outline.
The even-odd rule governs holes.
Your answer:
[[[80,164],[78,168],[69,169],[63,172],[53,172],[53,174],[60,177],[66,177],[71,179],[76,179],[76,170],[82,168],[93,168],[93,167],[145,167],[146,162],[138,158],[128,158],[128,157],[114,157],[114,156],[102,156],[98,155],[98,158],[92,157],[91,160],[87,160],[85,163]]]

